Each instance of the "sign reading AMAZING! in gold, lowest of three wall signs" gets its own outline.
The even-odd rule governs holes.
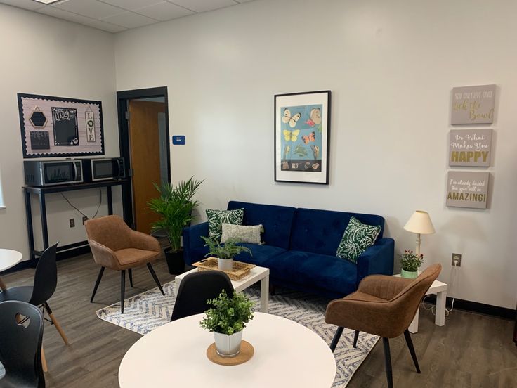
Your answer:
[[[489,172],[450,171],[445,205],[486,209]]]

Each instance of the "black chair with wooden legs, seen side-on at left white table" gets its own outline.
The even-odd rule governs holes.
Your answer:
[[[63,342],[68,344],[67,336],[61,328],[58,320],[55,318],[51,307],[48,306],[48,299],[52,297],[55,292],[55,287],[58,285],[58,267],[55,264],[55,250],[58,243],[48,247],[39,258],[34,273],[34,285],[11,287],[5,291],[0,292],[0,302],[7,300],[18,300],[20,302],[27,302],[34,304],[34,306],[43,306],[44,311],[48,313],[53,325],[63,338]]]

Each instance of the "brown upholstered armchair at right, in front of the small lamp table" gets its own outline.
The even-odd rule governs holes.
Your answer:
[[[372,275],[362,279],[358,290],[343,299],[335,299],[327,306],[325,322],[337,325],[336,335],[330,348],[336,349],[343,328],[355,330],[353,347],[357,346],[359,332],[379,335],[384,343],[386,378],[393,387],[389,339],[404,333],[417,373],[420,367],[413,342],[407,328],[433,281],[438,278],[442,266],[429,266],[416,279]]]

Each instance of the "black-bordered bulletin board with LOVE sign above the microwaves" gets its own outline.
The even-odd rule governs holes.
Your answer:
[[[100,101],[18,93],[18,111],[23,157],[104,155]]]

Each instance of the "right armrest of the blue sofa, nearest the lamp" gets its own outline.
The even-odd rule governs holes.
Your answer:
[[[358,257],[358,278],[356,286],[362,278],[375,273],[393,275],[393,259],[395,257],[395,240],[379,238],[377,243],[362,252]]]

